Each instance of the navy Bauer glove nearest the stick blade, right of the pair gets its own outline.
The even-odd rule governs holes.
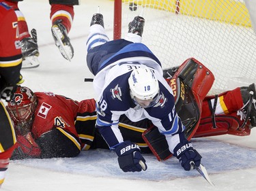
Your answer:
[[[188,141],[186,143],[178,143],[173,151],[173,156],[176,156],[177,159],[179,159],[180,164],[185,171],[194,169],[193,165],[190,164],[192,161],[195,162],[195,166],[200,166],[202,157],[196,150],[194,150],[192,143]]]

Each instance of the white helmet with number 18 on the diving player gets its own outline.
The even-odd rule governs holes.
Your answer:
[[[156,105],[159,85],[156,75],[148,67],[134,69],[128,79],[130,97],[136,105],[143,108]]]

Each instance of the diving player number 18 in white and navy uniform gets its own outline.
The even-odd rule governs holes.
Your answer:
[[[173,91],[162,77],[161,63],[141,44],[144,18],[136,16],[124,39],[109,41],[102,14],[91,19],[87,39],[87,66],[94,77],[98,94],[96,128],[118,156],[124,171],[145,171],[147,164],[139,146],[124,141],[118,129],[125,114],[133,122],[148,118],[165,135],[169,150],[186,171],[199,167],[200,154],[184,135],[185,126],[175,111]]]

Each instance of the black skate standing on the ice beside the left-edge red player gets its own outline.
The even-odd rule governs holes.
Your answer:
[[[23,69],[35,68],[40,65],[38,56],[38,37],[35,29],[31,30],[31,36],[20,41],[21,52],[23,54]]]

